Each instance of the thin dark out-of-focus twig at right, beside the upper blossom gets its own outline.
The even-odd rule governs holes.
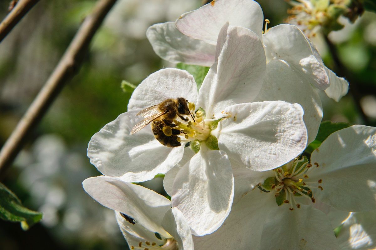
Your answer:
[[[354,103],[356,107],[358,108],[360,115],[362,119],[364,120],[364,123],[366,125],[370,125],[370,120],[368,116],[364,113],[364,110],[362,106],[360,105],[361,94],[359,93],[358,83],[355,82],[355,79],[350,73],[350,70],[348,70],[346,66],[344,66],[344,64],[342,63],[340,57],[338,56],[337,47],[331,42],[331,40],[329,40],[329,38],[326,35],[324,35],[324,39],[325,39],[326,44],[329,47],[329,51],[332,54],[335,67],[337,68],[337,70],[335,71],[338,73],[339,76],[341,77],[346,76],[346,78],[349,80],[349,92],[353,97]]]

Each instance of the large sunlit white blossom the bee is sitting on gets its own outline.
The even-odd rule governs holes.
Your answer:
[[[128,182],[166,173],[190,142],[197,153],[177,173],[172,205],[186,217],[195,235],[214,232],[230,212],[233,175],[229,159],[256,171],[276,168],[306,147],[303,109],[282,101],[254,102],[265,78],[265,54],[259,37],[243,27],[225,25],[215,63],[199,93],[188,72],[162,69],[132,94],[128,111],[92,136],[88,157],[102,174]],[[190,102],[193,117],[176,122],[185,135],[179,147],[160,144],[149,126],[130,135],[136,114],[167,98]],[[197,112],[195,108],[200,108]],[[316,132],[317,133],[317,132]]]

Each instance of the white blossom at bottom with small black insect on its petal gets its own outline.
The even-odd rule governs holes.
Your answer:
[[[88,178],[82,185],[92,198],[115,210],[130,249],[194,249],[188,223],[164,196],[108,176]]]

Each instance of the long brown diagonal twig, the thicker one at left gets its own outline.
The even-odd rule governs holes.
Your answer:
[[[115,2],[99,0],[93,12],[86,16],[55,70],[0,151],[0,176],[9,168],[26,142],[26,136],[39,123],[67,81],[78,73],[92,37]]]

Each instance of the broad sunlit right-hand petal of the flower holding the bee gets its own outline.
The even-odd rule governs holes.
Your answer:
[[[242,103],[224,109],[212,135],[232,159],[255,171],[281,166],[305,149],[307,130],[299,104],[282,101]]]

